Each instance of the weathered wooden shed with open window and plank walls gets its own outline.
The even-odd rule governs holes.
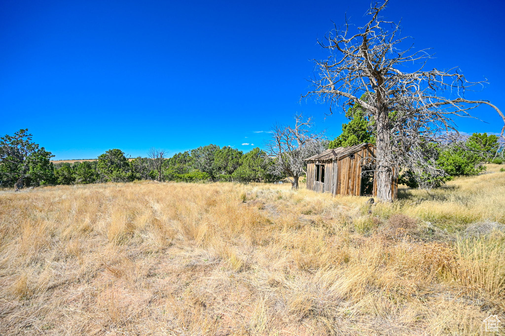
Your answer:
[[[377,195],[375,181],[375,146],[364,143],[352,147],[329,149],[307,161],[307,189],[334,195]],[[398,183],[391,187],[396,198]]]

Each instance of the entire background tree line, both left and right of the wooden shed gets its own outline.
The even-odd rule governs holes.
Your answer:
[[[121,150],[111,149],[93,161],[51,162],[54,155],[33,142],[28,129],[0,138],[0,187],[103,182],[157,181],[235,181],[277,182],[290,178],[293,188],[305,175],[304,159],[324,148],[375,144],[374,120],[360,104],[348,108],[348,123],[342,133],[328,142],[323,133],[310,131],[311,119],[295,116],[294,126],[276,124],[268,152],[255,148],[243,153],[232,147],[208,145],[167,157],[164,150],[151,148],[147,157],[128,159]],[[473,133],[451,143],[427,142],[424,155],[442,173],[403,169],[398,182],[412,188],[438,187],[455,176],[476,175],[482,162],[505,163],[503,144],[495,135]]]

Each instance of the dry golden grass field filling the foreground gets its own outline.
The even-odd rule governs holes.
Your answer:
[[[0,333],[485,334],[505,320],[488,170],[372,209],[287,184],[0,191]]]

